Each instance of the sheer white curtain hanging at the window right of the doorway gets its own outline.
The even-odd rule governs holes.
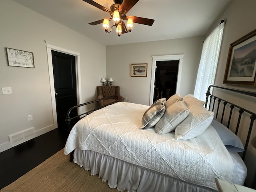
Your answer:
[[[204,40],[194,96],[205,101],[208,86],[214,84],[224,23],[219,24]]]

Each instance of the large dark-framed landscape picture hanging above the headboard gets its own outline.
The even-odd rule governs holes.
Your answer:
[[[256,30],[230,44],[224,84],[256,86]]]

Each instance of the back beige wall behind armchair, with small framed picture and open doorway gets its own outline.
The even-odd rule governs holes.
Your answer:
[[[129,34],[128,34],[129,35]],[[108,77],[131,102],[149,105],[152,56],[184,54],[180,95],[193,94],[204,37],[113,45],[106,47]],[[148,64],[147,77],[131,77],[131,64]]]

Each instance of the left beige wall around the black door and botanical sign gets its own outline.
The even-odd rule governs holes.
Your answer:
[[[96,86],[106,73],[106,47],[12,0],[0,1],[0,152],[10,148],[8,135],[34,127],[36,136],[56,128],[46,43],[80,52],[82,102],[96,98]],[[5,47],[34,53],[35,68],[7,66]],[[33,120],[28,121],[27,115]]]

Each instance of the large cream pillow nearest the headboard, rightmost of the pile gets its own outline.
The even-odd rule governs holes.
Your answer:
[[[211,124],[214,112],[204,108],[202,103],[198,105],[187,105],[190,113],[175,129],[175,138],[177,140],[188,140],[200,135]]]

